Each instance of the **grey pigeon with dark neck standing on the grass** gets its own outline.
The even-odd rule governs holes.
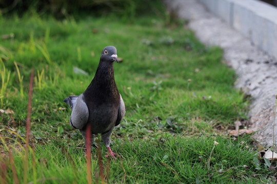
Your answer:
[[[110,136],[113,128],[119,125],[125,116],[125,104],[114,80],[114,61],[118,63],[116,48],[105,47],[95,76],[84,93],[64,99],[72,110],[70,125],[80,130],[85,143],[87,128],[90,128],[91,144],[94,142],[94,135],[101,134],[113,158],[116,153],[111,151]]]

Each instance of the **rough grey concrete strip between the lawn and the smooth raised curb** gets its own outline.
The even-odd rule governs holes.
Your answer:
[[[242,2],[249,1],[243,0]],[[209,2],[211,9],[217,7],[217,10],[224,14],[223,9],[218,8],[219,5],[215,6],[215,3],[234,1],[209,0],[207,2]],[[238,75],[235,86],[241,88],[244,93],[249,94],[253,99],[250,111],[247,114],[249,117],[247,126],[254,131],[258,131],[254,134],[258,141],[271,145],[275,94],[277,93],[277,61],[257,48],[249,38],[234,30],[227,23],[228,20],[225,22],[222,20],[224,18],[218,18],[208,12],[200,2],[196,0],[165,0],[165,3],[168,8],[176,11],[181,18],[189,19],[188,27],[195,32],[195,35],[202,42],[218,45],[224,49],[225,60]],[[233,16],[236,16],[236,13]],[[227,16],[226,19],[228,19]],[[230,18],[229,22],[231,22]],[[252,28],[254,29],[255,26],[252,26]],[[275,123],[275,130],[277,130],[277,122]],[[274,140],[277,143],[277,133]]]

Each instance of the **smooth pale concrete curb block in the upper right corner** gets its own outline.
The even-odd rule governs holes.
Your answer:
[[[277,8],[258,0],[200,0],[248,37],[261,50],[277,58]]]

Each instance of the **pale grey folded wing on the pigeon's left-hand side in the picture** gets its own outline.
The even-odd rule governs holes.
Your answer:
[[[76,129],[82,129],[88,122],[89,110],[84,101],[84,95],[81,94],[73,103],[71,101],[72,112],[70,116],[70,125]]]

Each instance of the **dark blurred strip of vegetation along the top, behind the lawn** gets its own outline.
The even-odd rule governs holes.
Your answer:
[[[61,18],[67,14],[101,15],[117,14],[128,19],[132,19],[136,14],[161,14],[165,8],[161,6],[159,0],[1,0],[0,12],[11,14],[16,12],[23,15],[28,10],[39,12],[40,14],[51,13],[56,18]]]

